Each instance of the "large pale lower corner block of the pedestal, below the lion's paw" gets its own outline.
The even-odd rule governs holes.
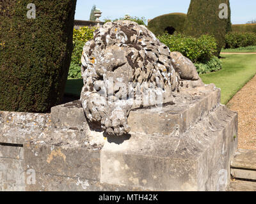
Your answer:
[[[223,191],[237,147],[234,135],[237,114],[220,106],[180,137],[137,134],[120,144],[105,143],[100,180],[150,190]]]

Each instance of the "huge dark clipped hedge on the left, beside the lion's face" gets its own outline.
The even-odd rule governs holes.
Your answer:
[[[61,102],[75,10],[76,0],[0,0],[0,110],[46,112]]]

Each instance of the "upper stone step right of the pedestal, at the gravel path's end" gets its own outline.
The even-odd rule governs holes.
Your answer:
[[[256,151],[238,149],[230,166],[231,168],[256,171]]]

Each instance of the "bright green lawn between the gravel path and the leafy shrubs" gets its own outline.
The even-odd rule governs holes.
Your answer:
[[[255,54],[223,54],[220,71],[200,75],[205,84],[221,88],[221,103],[228,101],[256,74]]]

